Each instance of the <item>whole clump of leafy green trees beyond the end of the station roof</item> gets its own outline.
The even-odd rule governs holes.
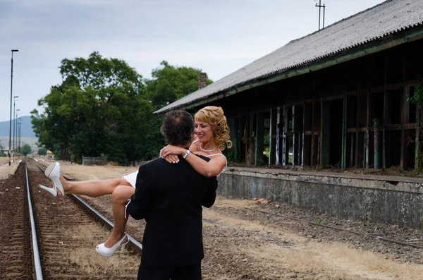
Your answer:
[[[200,69],[163,61],[145,80],[125,61],[93,52],[87,59],[63,59],[63,83],[51,87],[31,112],[39,146],[59,153],[65,144],[80,163],[82,155],[106,155],[125,164],[153,159],[163,147],[161,117],[153,112],[198,89]],[[207,83],[212,83],[207,80]]]

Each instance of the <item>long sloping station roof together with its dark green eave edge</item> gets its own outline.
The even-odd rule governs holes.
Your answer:
[[[238,92],[319,71],[422,39],[423,0],[388,0],[295,39],[243,68],[154,112],[190,109]]]

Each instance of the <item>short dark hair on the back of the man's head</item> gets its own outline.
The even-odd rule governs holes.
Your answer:
[[[171,111],[166,114],[160,132],[167,144],[186,145],[194,133],[194,118],[188,111]]]

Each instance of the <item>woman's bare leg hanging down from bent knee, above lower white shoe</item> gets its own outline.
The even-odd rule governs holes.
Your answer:
[[[113,231],[111,231],[111,235],[104,243],[106,248],[111,248],[125,235],[125,226],[128,221],[128,216],[125,218],[125,205],[134,193],[135,188],[132,186],[118,185],[111,194],[114,228]]]

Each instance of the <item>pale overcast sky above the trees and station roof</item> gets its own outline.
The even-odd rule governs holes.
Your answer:
[[[145,78],[163,60],[216,81],[319,27],[319,0],[0,0],[0,121],[11,94],[19,116],[61,83],[62,59],[92,51]],[[327,0],[325,25],[381,0]],[[322,11],[323,16],[323,11]],[[13,108],[12,108],[13,109]]]

